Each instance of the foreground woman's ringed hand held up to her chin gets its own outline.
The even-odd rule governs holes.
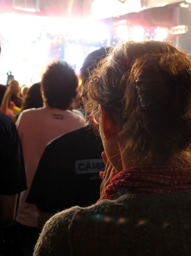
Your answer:
[[[100,177],[103,180],[100,186],[100,197],[104,194],[104,189],[107,187],[110,183],[110,180],[117,174],[118,172],[114,169],[114,167],[111,165],[110,161],[108,160],[105,151],[101,154],[103,162],[105,164],[105,171],[100,172]],[[105,175],[105,178],[103,179],[103,175]]]

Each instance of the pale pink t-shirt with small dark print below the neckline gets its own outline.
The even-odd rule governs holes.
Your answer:
[[[82,126],[84,120],[69,110],[43,107],[22,112],[17,128],[23,147],[28,188],[47,143]],[[37,208],[25,203],[27,194],[28,190],[21,193],[17,221],[26,226],[37,227]]]

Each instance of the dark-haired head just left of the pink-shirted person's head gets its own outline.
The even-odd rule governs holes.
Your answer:
[[[41,84],[34,83],[34,85],[32,85],[26,93],[22,105],[22,110],[39,107],[43,107]]]

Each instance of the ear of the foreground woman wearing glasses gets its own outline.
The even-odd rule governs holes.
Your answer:
[[[115,135],[117,127],[111,119],[110,114],[108,114],[108,112],[105,110],[105,108],[100,106],[100,109],[104,138],[105,141],[109,141],[109,139]]]

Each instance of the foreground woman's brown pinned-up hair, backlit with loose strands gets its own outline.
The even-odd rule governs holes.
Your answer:
[[[122,121],[123,152],[140,164],[191,165],[190,56],[167,42],[124,42],[86,85],[87,108],[98,104]]]

